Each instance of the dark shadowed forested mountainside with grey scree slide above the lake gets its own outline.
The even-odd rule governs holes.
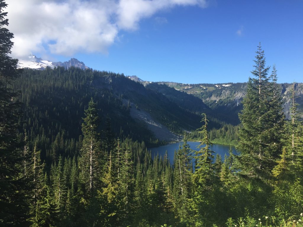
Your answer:
[[[21,90],[25,127],[33,134],[49,134],[50,141],[51,135],[60,131],[68,138],[81,135],[84,110],[91,97],[97,103],[101,130],[109,117],[116,138],[158,144],[180,140],[184,130],[201,127],[201,113],[210,111],[201,99],[166,85],[155,86],[171,95],[165,96],[123,74],[60,66],[24,69],[14,84],[15,90]]]

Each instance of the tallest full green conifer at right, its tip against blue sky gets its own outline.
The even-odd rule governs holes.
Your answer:
[[[257,78],[249,78],[247,94],[242,102],[243,110],[239,113],[242,127],[238,132],[236,149],[240,152],[237,168],[241,171],[237,173],[268,182],[275,160],[281,154],[284,115],[277,91],[275,67],[268,78],[269,67],[265,67],[261,45],[256,53],[255,70],[251,73]]]

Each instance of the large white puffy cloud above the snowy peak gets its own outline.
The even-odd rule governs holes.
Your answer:
[[[12,55],[107,53],[121,30],[177,5],[205,8],[207,0],[7,0]]]

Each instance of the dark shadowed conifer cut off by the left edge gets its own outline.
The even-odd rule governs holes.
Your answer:
[[[6,226],[25,223],[26,210],[23,177],[21,169],[21,147],[17,128],[20,104],[18,95],[11,89],[11,84],[19,76],[17,59],[8,56],[11,53],[13,34],[6,28],[8,19],[4,12],[7,4],[0,0],[0,223]],[[22,171],[23,170],[23,171]]]

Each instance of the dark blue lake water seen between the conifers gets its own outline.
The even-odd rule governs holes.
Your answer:
[[[167,151],[170,163],[173,164],[175,150],[178,150],[179,146],[182,146],[182,143],[183,142],[169,143],[169,144],[164,145],[164,146],[151,147],[151,148],[148,148],[148,150],[151,151],[151,157],[152,158],[154,158],[157,154],[159,154],[159,157],[160,156],[163,157],[165,155],[165,152]],[[197,146],[200,145],[200,142],[188,142],[188,144],[189,144],[189,146],[192,150],[200,150],[199,148],[197,148]],[[227,156],[229,156],[229,154],[228,154],[229,146],[227,146],[227,145],[213,144],[213,145],[210,146],[210,150],[212,150],[214,152],[215,156],[216,156],[216,154],[220,154],[221,157],[222,157],[222,160],[223,160],[225,154]],[[232,146],[232,153],[237,154],[234,146]],[[192,161],[194,163],[195,159],[192,159]]]

